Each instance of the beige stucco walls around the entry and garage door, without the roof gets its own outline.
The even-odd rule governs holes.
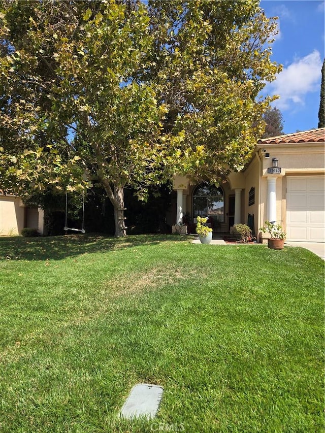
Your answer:
[[[224,190],[224,223],[220,231],[229,229],[229,198],[235,196],[235,190],[241,189],[241,222],[247,224],[248,214],[254,215],[255,235],[259,240],[258,228],[268,219],[268,177],[276,179],[276,220],[286,229],[286,181],[292,175],[323,175],[325,172],[324,143],[281,143],[259,144],[255,154],[244,172],[231,173],[229,182],[222,184]],[[269,157],[266,157],[266,155]],[[281,174],[270,175],[272,158],[278,159]],[[183,211],[192,214],[192,191],[196,185],[189,185],[186,177],[177,177],[174,189],[182,189],[184,193]],[[255,189],[254,204],[249,206],[248,198],[251,188]],[[271,197],[274,195],[270,194]],[[176,197],[176,196],[175,196]],[[172,208],[172,220],[176,220],[176,198]],[[272,201],[271,201],[272,203]],[[175,210],[174,210],[175,208]],[[173,222],[174,223],[174,222]]]

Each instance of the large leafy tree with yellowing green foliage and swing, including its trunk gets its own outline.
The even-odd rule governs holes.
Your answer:
[[[125,235],[123,188],[219,180],[263,129],[279,66],[258,2],[2,2],[1,188],[98,182]]]

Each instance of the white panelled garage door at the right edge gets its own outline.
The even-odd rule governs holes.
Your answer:
[[[288,176],[286,232],[288,241],[325,241],[323,176]]]

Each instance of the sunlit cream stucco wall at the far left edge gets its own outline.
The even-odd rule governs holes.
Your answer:
[[[24,227],[25,208],[12,195],[0,196],[0,235],[18,235]]]

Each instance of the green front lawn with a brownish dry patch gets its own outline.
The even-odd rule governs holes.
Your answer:
[[[323,266],[177,236],[0,239],[0,431],[322,432]],[[122,421],[139,382],[164,387],[158,416]]]

